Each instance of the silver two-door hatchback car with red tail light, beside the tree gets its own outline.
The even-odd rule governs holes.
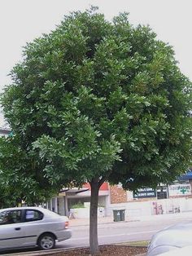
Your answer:
[[[72,236],[68,217],[41,207],[15,207],[0,210],[0,249],[39,246],[53,249],[55,241]]]

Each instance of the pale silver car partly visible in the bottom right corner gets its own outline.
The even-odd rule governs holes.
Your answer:
[[[192,223],[178,223],[157,232],[148,246],[147,256],[164,254],[173,249],[192,245]],[[177,250],[176,250],[177,252]],[[192,253],[191,253],[192,254]]]

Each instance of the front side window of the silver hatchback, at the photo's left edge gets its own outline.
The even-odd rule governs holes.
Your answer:
[[[0,213],[0,225],[21,222],[21,210],[6,210]]]

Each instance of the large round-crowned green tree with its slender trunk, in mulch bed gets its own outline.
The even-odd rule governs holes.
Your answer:
[[[32,160],[28,175],[50,188],[90,183],[91,254],[102,183],[168,183],[185,171],[191,146],[191,83],[172,47],[126,13],[109,22],[94,9],[28,43],[2,95],[23,162]]]

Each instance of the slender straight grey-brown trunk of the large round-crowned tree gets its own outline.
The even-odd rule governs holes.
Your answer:
[[[89,212],[89,246],[91,255],[97,254],[98,249],[98,179],[90,182],[90,212]]]

